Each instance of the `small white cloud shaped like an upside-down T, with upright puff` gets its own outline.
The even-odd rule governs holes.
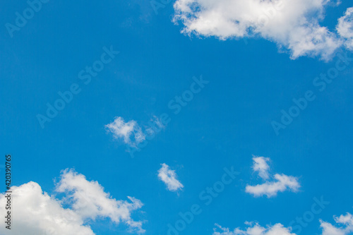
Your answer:
[[[258,184],[256,186],[246,185],[246,193],[250,193],[255,197],[267,195],[268,198],[274,197],[278,192],[284,192],[290,190],[297,192],[300,188],[298,179],[294,176],[286,176],[285,174],[275,174],[273,176],[274,181],[268,181],[268,164],[270,159],[265,157],[253,157],[253,171],[258,172],[262,179],[265,179],[265,183]]]

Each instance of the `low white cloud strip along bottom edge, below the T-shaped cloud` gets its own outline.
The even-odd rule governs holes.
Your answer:
[[[285,228],[282,224],[268,225],[267,227],[261,227],[253,222],[246,222],[246,224],[249,226],[246,230],[236,228],[234,231],[215,224],[217,228],[213,229],[213,235],[295,235],[291,233],[289,228]]]

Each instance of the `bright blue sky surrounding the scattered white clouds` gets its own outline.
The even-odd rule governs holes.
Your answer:
[[[74,169],[116,200],[140,200],[143,206],[131,218],[143,222],[145,234],[167,234],[167,224],[175,224],[179,212],[194,204],[202,212],[180,234],[213,234],[215,223],[230,231],[245,229],[244,222],[289,227],[311,210],[313,198],[321,197],[330,204],[301,234],[322,234],[319,219],[340,227],[333,216],[353,212],[352,64],[323,91],[313,80],[335,68],[337,53],[353,57],[349,46],[329,56],[311,49],[294,58],[297,51],[288,51],[291,45],[277,35],[244,35],[243,40],[197,27],[188,35],[181,33],[186,22],[172,22],[173,3],[156,14],[149,1],[49,1],[13,37],[1,27],[1,152],[12,156],[13,186],[33,181],[61,200],[63,193],[55,190],[61,171]],[[25,1],[0,5],[2,25],[15,24],[15,13],[28,8]],[[349,1],[334,5],[323,6],[320,20],[332,32],[352,6]],[[104,47],[119,54],[85,85],[78,73],[100,60]],[[209,83],[174,114],[169,102],[201,76]],[[54,105],[58,92],[75,83],[80,92],[42,128],[37,115],[45,115],[47,103]],[[276,134],[273,121],[280,122],[281,110],[288,112],[292,100],[308,90],[316,99]],[[148,122],[163,113],[170,122],[133,158],[126,148],[136,146],[107,130],[121,117],[146,133]],[[270,178],[294,176],[300,188],[271,197],[247,193],[247,185],[264,182],[253,171],[253,156],[270,159]],[[160,180],[163,163],[182,188],[170,191]],[[200,193],[221,181],[225,167],[239,175],[205,205]],[[4,212],[4,205],[0,209]],[[23,224],[14,211],[13,229],[35,223]],[[85,224],[95,234],[131,234],[126,223],[109,217]],[[11,234],[3,225],[0,233]]]

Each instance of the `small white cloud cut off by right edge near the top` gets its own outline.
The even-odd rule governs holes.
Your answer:
[[[345,16],[338,19],[337,32],[346,39],[346,47],[353,49],[353,7],[347,8]]]

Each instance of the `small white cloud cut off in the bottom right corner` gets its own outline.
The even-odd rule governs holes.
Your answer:
[[[346,235],[352,234],[353,232],[353,216],[349,213],[347,215],[340,215],[340,217],[334,217],[337,224],[343,225],[343,227],[335,227],[333,224],[320,220],[320,226],[323,229],[322,235]]]

